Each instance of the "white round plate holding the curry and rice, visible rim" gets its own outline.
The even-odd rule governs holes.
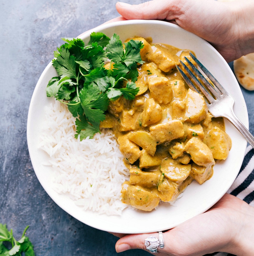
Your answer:
[[[154,43],[165,43],[180,49],[189,49],[211,71],[217,80],[235,99],[234,111],[238,118],[248,127],[248,113],[244,97],[238,82],[223,57],[205,40],[185,31],[177,25],[155,20],[130,20],[101,25],[92,31],[103,32],[111,37],[117,33],[124,41],[133,36],[152,37]],[[87,43],[90,32],[81,38]],[[45,88],[48,81],[57,73],[51,62],[43,71],[32,96],[28,121],[27,141],[34,171],[43,188],[62,209],[81,222],[100,230],[117,233],[148,233],[173,228],[184,221],[208,210],[231,187],[244,159],[247,142],[243,136],[225,121],[226,132],[232,139],[232,148],[225,161],[218,161],[212,178],[199,185],[192,182],[177,199],[174,206],[162,204],[152,212],[124,210],[122,216],[107,216],[92,211],[84,211],[66,195],[58,194],[50,186],[51,168],[43,166],[48,156],[38,149],[38,138],[44,116],[44,106],[52,102],[47,98]]]

